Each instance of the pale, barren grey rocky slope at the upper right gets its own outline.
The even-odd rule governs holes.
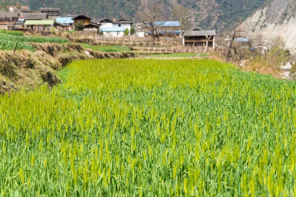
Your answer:
[[[296,48],[296,4],[295,0],[272,0],[259,9],[243,24],[250,36],[262,35],[266,43],[277,36],[284,38],[286,48],[295,53]],[[292,51],[293,50],[293,51]]]

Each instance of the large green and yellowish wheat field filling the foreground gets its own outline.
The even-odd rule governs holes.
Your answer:
[[[91,60],[0,96],[0,195],[294,196],[296,83],[214,60]]]

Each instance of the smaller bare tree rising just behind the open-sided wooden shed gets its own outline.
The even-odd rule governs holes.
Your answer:
[[[187,19],[189,15],[189,10],[183,6],[176,6],[173,9],[172,17],[180,22],[180,31],[183,35],[185,30],[192,27],[193,23]]]

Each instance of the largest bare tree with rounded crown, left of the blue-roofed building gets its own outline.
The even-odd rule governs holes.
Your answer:
[[[155,0],[152,0],[146,4],[142,4],[135,15],[143,24],[143,28],[150,32],[154,40],[157,39],[161,33],[161,24],[156,22],[162,18],[162,14],[161,6]]]

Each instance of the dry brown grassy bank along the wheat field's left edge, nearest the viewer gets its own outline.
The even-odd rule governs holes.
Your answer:
[[[48,84],[52,87],[60,82],[55,77],[53,67],[43,64],[48,55],[45,52],[29,51],[0,51],[0,94],[10,92],[12,89],[34,89],[39,85]],[[51,59],[54,60],[54,59]],[[49,64],[49,63],[48,63]],[[50,63],[57,64],[56,62]]]

